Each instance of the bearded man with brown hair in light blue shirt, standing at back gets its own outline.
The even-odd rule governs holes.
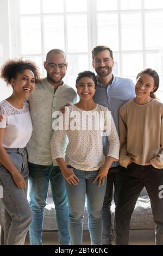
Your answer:
[[[98,45],[92,50],[92,65],[97,73],[97,88],[93,100],[111,111],[118,132],[118,109],[135,96],[134,83],[128,78],[117,77],[112,74],[115,65],[112,50],[108,46]],[[104,154],[108,155],[107,137],[103,137]],[[107,185],[103,203],[103,245],[111,245],[111,201],[113,186],[114,200],[117,205],[118,193],[123,181],[125,168],[119,162],[113,162],[107,176]]]

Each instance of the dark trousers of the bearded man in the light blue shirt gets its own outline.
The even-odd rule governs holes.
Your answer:
[[[122,166],[112,167],[109,169],[104,204],[102,210],[103,217],[103,235],[102,243],[109,244],[112,242],[112,227],[111,227],[111,201],[114,185],[114,202],[117,205],[118,196],[120,193],[121,184],[124,179],[126,168]]]

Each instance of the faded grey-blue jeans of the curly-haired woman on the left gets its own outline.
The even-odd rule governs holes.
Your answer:
[[[28,186],[28,162],[25,148],[6,149]],[[16,186],[12,175],[0,163],[0,185],[3,186],[4,205],[4,245],[24,245],[26,234],[32,220],[32,212],[27,201],[27,188]]]

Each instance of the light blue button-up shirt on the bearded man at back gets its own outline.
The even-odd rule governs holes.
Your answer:
[[[112,82],[106,87],[98,82],[96,93],[93,100],[99,105],[108,107],[115,122],[117,132],[118,128],[118,109],[130,99],[135,97],[135,87],[132,80],[114,76]],[[108,154],[109,142],[106,136],[103,137],[103,148],[105,156]],[[118,162],[112,163],[111,167],[118,166]]]

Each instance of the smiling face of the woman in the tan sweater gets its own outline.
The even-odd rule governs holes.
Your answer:
[[[135,93],[137,98],[150,99],[150,93],[156,89],[154,79],[148,74],[140,74],[135,84]]]

